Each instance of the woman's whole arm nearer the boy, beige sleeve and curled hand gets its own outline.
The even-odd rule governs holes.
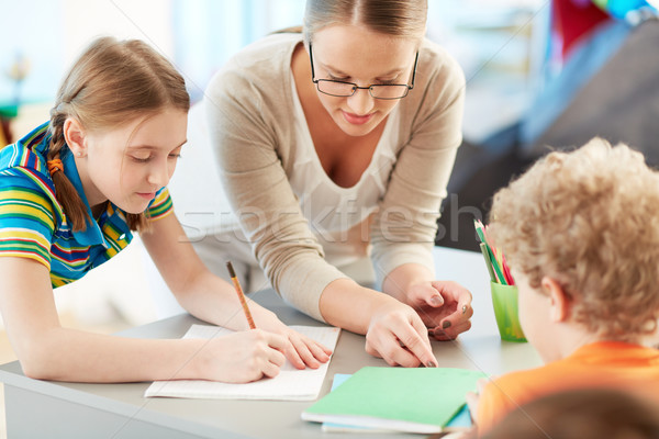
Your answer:
[[[432,249],[462,139],[465,78],[444,49],[424,45],[422,80],[401,102],[406,143],[371,224],[371,256],[382,291],[413,306],[436,338],[449,339],[470,327],[471,294],[435,280]]]

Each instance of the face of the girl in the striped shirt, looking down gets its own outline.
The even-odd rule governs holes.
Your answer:
[[[188,113],[167,109],[103,133],[88,133],[87,151],[76,157],[90,206],[110,200],[142,213],[165,187],[187,142]]]

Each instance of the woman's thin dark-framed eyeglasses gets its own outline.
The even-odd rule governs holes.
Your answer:
[[[313,52],[311,42],[309,43],[309,59],[311,60],[311,81],[316,85],[321,93],[330,94],[337,98],[349,98],[357,92],[358,89],[368,90],[375,99],[402,99],[407,95],[407,92],[414,88],[414,77],[416,76],[416,64],[418,61],[418,52],[414,58],[414,68],[412,69],[412,83],[383,83],[371,85],[368,87],[359,87],[354,82],[335,81],[333,79],[315,79],[313,68]]]

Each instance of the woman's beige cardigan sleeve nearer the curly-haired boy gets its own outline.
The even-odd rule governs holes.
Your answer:
[[[440,47],[425,55],[420,64],[434,67],[421,71],[420,87],[410,92],[410,98],[414,93],[409,105],[413,110],[402,113],[406,137],[401,139],[387,192],[371,224],[378,284],[404,263],[418,263],[434,273],[432,248],[439,207],[462,142],[462,70]]]

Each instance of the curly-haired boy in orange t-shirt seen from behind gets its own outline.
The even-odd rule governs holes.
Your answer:
[[[494,195],[489,234],[518,285],[520,320],[545,365],[469,395],[479,432],[561,390],[657,385],[659,172],[594,138],[551,153]]]

